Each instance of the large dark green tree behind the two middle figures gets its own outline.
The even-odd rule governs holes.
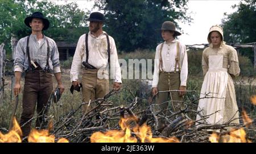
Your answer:
[[[118,49],[155,49],[162,41],[160,28],[165,20],[190,22],[187,0],[96,0],[94,7],[104,10],[106,31],[116,40]],[[177,28],[179,26],[176,23]]]

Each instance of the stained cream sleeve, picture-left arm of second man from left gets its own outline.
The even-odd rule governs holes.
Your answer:
[[[77,81],[79,79],[79,73],[81,71],[82,56],[84,55],[85,49],[85,34],[80,36],[79,41],[76,45],[75,55],[73,56],[73,61],[70,70],[70,78],[72,81]]]

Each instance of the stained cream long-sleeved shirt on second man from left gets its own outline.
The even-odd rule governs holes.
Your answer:
[[[88,35],[88,63],[93,65],[97,69],[100,69],[108,76],[108,43],[106,40],[106,32],[103,32],[97,38],[90,32]],[[121,80],[121,69],[118,63],[117,48],[115,47],[114,39],[109,36],[110,43],[110,77],[114,79],[114,82],[122,83]],[[82,61],[86,61],[85,51],[85,34],[80,36],[77,42],[75,55],[73,56],[73,62],[71,66],[71,82],[79,79],[79,73],[82,68]],[[83,68],[84,69],[84,68]]]

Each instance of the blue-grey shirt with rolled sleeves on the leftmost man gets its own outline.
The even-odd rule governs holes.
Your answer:
[[[36,35],[30,35],[28,47],[30,49],[30,60],[36,61],[41,68],[45,68],[47,64],[47,42],[49,41],[49,69],[53,70],[53,73],[60,72],[59,51],[55,41],[46,36],[42,40],[37,40]],[[18,41],[16,46],[16,55],[14,60],[14,72],[23,72],[28,69],[28,57],[27,57],[27,37]]]

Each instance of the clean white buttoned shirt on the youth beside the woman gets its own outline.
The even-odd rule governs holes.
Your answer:
[[[162,60],[163,60],[163,70],[164,72],[174,72],[175,70],[175,57],[177,55],[177,40],[173,40],[170,43],[164,41],[162,49]],[[152,81],[152,88],[158,86],[159,80],[159,59],[160,59],[160,47],[159,44],[156,47],[155,53],[155,65],[154,65],[154,76]],[[179,43],[180,47],[180,86],[187,85],[188,77],[188,57],[185,45]],[[179,71],[179,68],[176,68],[176,72]]]

